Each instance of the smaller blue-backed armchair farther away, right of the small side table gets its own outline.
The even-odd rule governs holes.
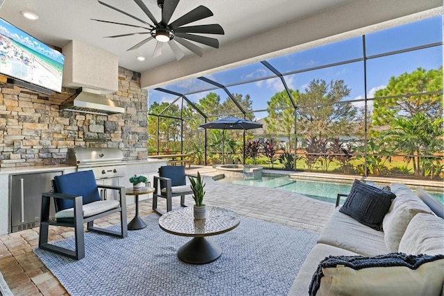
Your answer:
[[[173,197],[180,196],[180,206],[185,204],[185,195],[192,195],[193,190],[187,183],[187,175],[185,174],[185,166],[183,165],[164,165],[159,167],[159,176],[153,179],[153,211],[163,215],[164,210],[157,208],[157,198],[167,199],[167,212],[173,209]]]

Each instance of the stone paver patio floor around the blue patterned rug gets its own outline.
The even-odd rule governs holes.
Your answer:
[[[212,167],[191,167],[187,173],[196,174],[197,170],[205,175],[205,204],[230,208],[239,215],[319,232],[334,211],[334,204],[284,190],[216,183],[210,178],[216,174]],[[139,215],[153,213],[151,202],[151,199],[146,199],[139,203]],[[191,196],[187,197],[187,203],[194,203]],[[173,199],[173,206],[176,205],[178,198]],[[159,206],[165,206],[165,202],[161,200]],[[130,221],[135,215],[134,204],[127,207],[127,213]],[[118,214],[95,222],[101,227],[117,223]],[[38,245],[38,231],[37,227],[0,236],[0,272],[14,295],[68,295],[33,253]],[[51,241],[71,236],[74,236],[71,228],[50,228]],[[85,254],[86,260],[87,256]]]

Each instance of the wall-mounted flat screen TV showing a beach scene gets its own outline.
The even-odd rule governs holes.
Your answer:
[[[65,56],[0,18],[0,74],[46,94],[62,91]]]

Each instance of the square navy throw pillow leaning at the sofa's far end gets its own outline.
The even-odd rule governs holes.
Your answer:
[[[382,230],[382,220],[396,195],[355,180],[350,194],[339,212],[355,218],[361,224]]]

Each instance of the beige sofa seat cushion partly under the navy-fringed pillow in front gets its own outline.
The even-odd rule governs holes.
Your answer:
[[[356,253],[333,247],[331,245],[317,244],[311,249],[304,263],[300,267],[296,279],[293,281],[288,296],[308,295],[308,290],[316,268],[328,256],[356,256]]]

